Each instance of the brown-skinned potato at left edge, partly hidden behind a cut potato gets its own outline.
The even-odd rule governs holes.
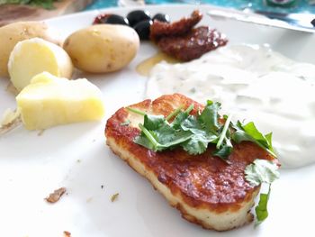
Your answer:
[[[0,77],[9,76],[7,64],[15,44],[19,41],[35,37],[60,44],[58,39],[49,31],[46,23],[19,22],[11,23],[0,28]]]

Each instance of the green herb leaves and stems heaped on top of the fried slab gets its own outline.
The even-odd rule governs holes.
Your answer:
[[[179,146],[196,155],[205,152],[212,143],[216,145],[212,155],[228,161],[233,150],[232,141],[252,141],[276,157],[271,142],[272,133],[262,134],[252,122],[232,123],[231,115],[224,115],[220,120],[218,102],[208,100],[203,111],[196,115],[190,114],[193,105],[185,111],[180,106],[168,116],[151,115],[131,107],[128,109],[144,116],[144,123],[139,123],[141,133],[134,141],[150,150],[161,151]],[[169,123],[172,118],[173,122]]]

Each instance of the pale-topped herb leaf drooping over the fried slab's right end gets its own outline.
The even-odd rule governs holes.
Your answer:
[[[263,223],[268,217],[267,204],[270,196],[271,183],[275,179],[279,178],[278,166],[269,160],[254,160],[254,162],[247,166],[245,169],[245,178],[252,186],[258,186],[262,183],[266,183],[268,192],[266,194],[260,194],[259,203],[255,207],[256,211],[256,226]]]

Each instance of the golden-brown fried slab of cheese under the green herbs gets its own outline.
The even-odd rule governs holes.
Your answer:
[[[179,105],[186,108],[191,104],[195,105],[192,113],[202,108],[202,105],[179,94],[161,96],[152,102],[145,100],[131,107],[147,111],[148,114],[167,115]],[[141,117],[136,118],[137,116],[140,115],[130,114],[125,108],[113,114],[106,124],[107,144],[133,169],[148,178],[170,204],[182,212],[185,219],[219,231],[229,230],[252,220],[247,211],[253,205],[259,187],[252,187],[247,183],[244,169],[256,159],[273,159],[265,150],[250,142],[235,144],[229,157],[229,165],[220,158],[211,156],[213,146],[202,155],[195,156],[181,149],[154,152],[133,142],[139,135],[139,128],[135,124],[141,122]],[[127,119],[130,119],[130,125],[121,125]],[[145,170],[139,169],[139,164]],[[215,226],[213,223],[216,220],[204,220],[198,211],[206,214],[204,216],[207,218],[212,218],[213,215],[226,218],[233,214],[238,216],[239,213],[244,220],[235,221],[234,217],[227,217],[230,223]]]

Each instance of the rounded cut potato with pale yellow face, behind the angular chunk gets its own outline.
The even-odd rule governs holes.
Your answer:
[[[31,78],[47,71],[57,77],[71,77],[73,65],[67,52],[40,38],[18,42],[8,63],[11,81],[18,90],[30,84]]]

